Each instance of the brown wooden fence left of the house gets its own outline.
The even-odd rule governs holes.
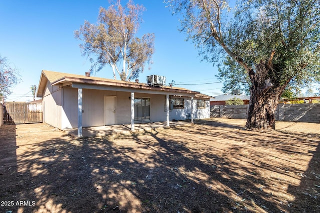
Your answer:
[[[5,102],[4,124],[26,124],[42,122],[42,103]]]

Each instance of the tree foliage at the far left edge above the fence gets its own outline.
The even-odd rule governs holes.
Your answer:
[[[12,67],[6,57],[0,55],[0,97],[10,95],[10,88],[19,81],[18,69]]]

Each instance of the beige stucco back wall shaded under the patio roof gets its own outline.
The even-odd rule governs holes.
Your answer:
[[[131,111],[129,92],[82,90],[82,126],[104,125],[104,96],[116,97],[116,124],[129,124]],[[150,121],[165,121],[165,95],[134,93],[134,97],[150,98]],[[185,119],[185,118],[183,118]],[[77,127],[77,89],[63,88],[62,129]]]

